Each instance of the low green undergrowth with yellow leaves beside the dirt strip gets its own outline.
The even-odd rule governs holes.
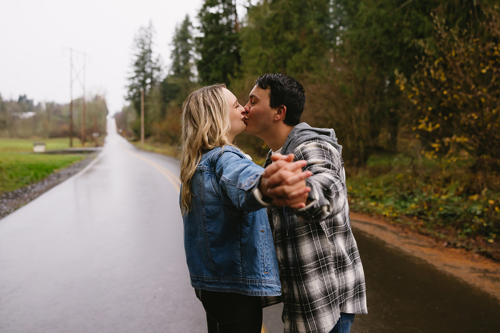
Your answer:
[[[377,173],[380,165],[390,170]],[[486,243],[498,242],[500,193],[487,188],[475,193],[473,175],[467,170],[464,162],[442,169],[435,160],[418,163],[403,154],[374,155],[365,171],[348,178],[349,205],[353,211],[416,226],[451,244],[477,237]]]

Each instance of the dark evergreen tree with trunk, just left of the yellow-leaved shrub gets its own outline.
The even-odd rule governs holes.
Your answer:
[[[394,84],[394,69],[414,71],[416,56],[423,55],[417,41],[434,34],[430,12],[441,13],[452,25],[475,24],[476,1],[335,0],[341,11],[343,47],[340,53],[354,73],[348,82],[354,94],[374,88],[369,102],[369,142],[378,145],[380,129],[387,128],[386,149],[396,150],[399,121],[407,117],[406,100]],[[366,159],[368,155],[364,156]]]

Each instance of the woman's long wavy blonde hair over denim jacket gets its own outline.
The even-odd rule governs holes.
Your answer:
[[[222,88],[214,84],[191,92],[182,104],[182,147],[180,157],[180,204],[182,214],[191,205],[191,178],[204,149],[230,145],[229,105]]]

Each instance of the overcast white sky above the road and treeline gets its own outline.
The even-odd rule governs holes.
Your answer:
[[[166,68],[175,26],[186,14],[194,21],[202,0],[0,0],[0,3],[0,94],[4,100],[17,100],[19,95],[26,94],[35,103],[69,102],[69,51],[64,47],[72,47],[89,55],[86,95],[105,95],[109,113],[113,114],[125,103],[132,41],[139,27],[152,20],[156,30],[155,50]],[[238,9],[238,15],[242,14],[244,8],[238,6]],[[82,64],[83,57],[73,54],[73,65],[81,68]],[[73,98],[81,95],[81,86],[76,82]]]

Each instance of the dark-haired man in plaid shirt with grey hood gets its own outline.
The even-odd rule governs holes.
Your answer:
[[[255,83],[245,105],[245,131],[271,148],[265,166],[293,153],[295,160],[307,161],[303,170],[312,172],[305,180],[311,191],[304,208],[268,208],[284,332],[349,332],[354,314],[367,309],[363,268],[350,229],[342,147],[332,129],[300,123],[305,91],[297,80],[265,74]],[[282,175],[266,175],[272,196],[283,188],[272,188],[281,184]],[[255,195],[259,199],[262,194]]]

